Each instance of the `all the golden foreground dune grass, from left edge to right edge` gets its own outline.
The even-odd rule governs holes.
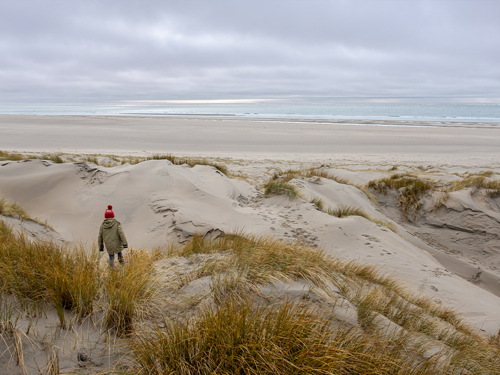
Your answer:
[[[1,296],[46,301],[57,311],[64,306],[95,314],[102,308],[103,326],[126,336],[129,364],[123,373],[486,375],[500,365],[495,337],[482,338],[459,314],[376,266],[340,261],[322,249],[243,232],[216,240],[196,235],[163,256],[205,259],[191,276],[176,277],[210,276],[205,298],[212,303],[186,314],[160,313],[157,304],[156,314],[146,316],[160,298],[153,270],[158,250],[130,250],[125,265],[111,270],[98,265],[95,253],[86,257],[77,249],[28,241],[3,223],[0,235]],[[210,256],[200,258],[203,253]],[[305,282],[321,297],[263,296],[262,287],[277,280]],[[359,325],[339,325],[331,315],[329,306],[340,297],[355,306]],[[90,304],[80,302],[85,300]],[[6,340],[16,332],[16,317],[4,301],[0,332]],[[147,323],[138,329],[141,321]],[[9,355],[22,358],[20,339],[10,347]],[[60,359],[57,351],[47,352],[50,368],[57,369]]]

